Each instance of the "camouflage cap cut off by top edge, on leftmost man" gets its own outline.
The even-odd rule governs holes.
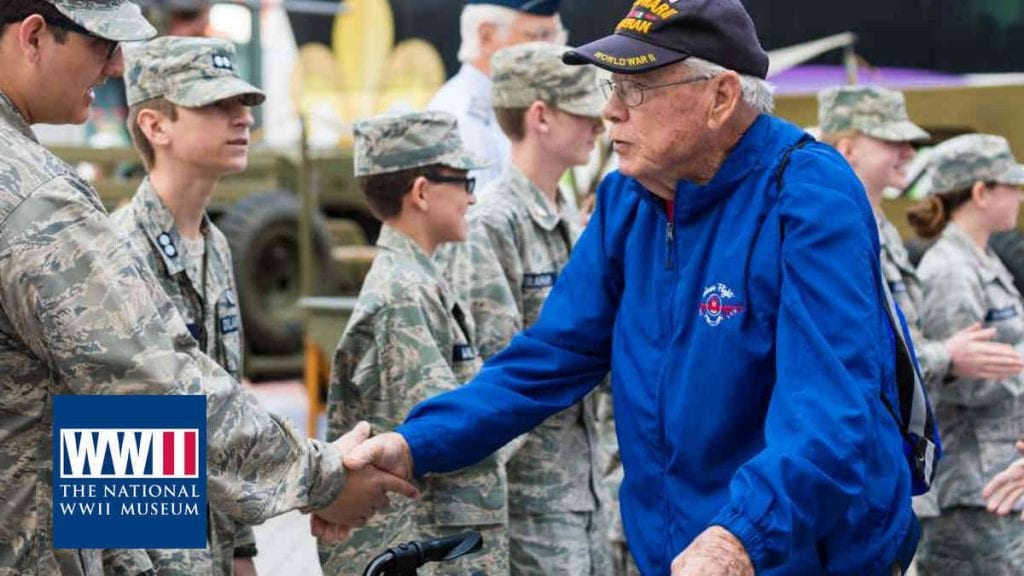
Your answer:
[[[157,35],[142,10],[127,0],[46,0],[91,34],[116,42],[146,40]]]

